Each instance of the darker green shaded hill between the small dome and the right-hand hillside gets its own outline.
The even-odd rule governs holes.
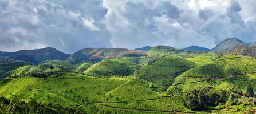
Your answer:
[[[152,63],[140,68],[137,77],[153,83],[154,87],[160,88],[171,85],[176,76],[196,67],[194,62],[175,55],[163,56],[152,61]]]

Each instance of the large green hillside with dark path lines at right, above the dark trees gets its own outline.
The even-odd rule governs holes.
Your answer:
[[[256,59],[224,55],[176,77],[168,91],[182,93],[191,89],[214,87],[237,89],[245,93],[249,84],[256,87],[255,73]]]

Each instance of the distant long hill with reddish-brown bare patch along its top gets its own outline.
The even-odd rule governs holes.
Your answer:
[[[99,62],[102,59],[110,59],[122,56],[145,56],[145,51],[128,50],[125,48],[85,48],[75,52],[70,59],[76,63],[84,61]]]

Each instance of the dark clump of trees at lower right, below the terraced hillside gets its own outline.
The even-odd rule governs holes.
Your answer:
[[[183,93],[183,101],[192,110],[203,110],[207,106],[256,104],[254,89],[247,87],[246,93],[231,89],[230,91],[216,90],[212,87],[192,90]],[[244,103],[246,102],[246,103]],[[228,107],[228,106],[227,106]]]

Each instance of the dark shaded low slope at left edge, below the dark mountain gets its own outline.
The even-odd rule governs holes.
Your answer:
[[[31,63],[23,62],[21,60],[6,59],[0,60],[0,76],[8,71],[14,70],[19,67],[29,65]]]

